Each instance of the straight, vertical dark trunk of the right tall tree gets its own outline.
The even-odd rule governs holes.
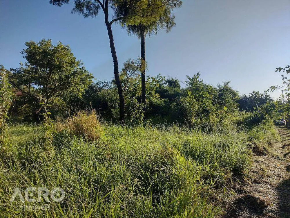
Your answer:
[[[145,28],[141,27],[140,29],[140,40],[141,40],[141,61],[142,61],[142,73],[141,73],[141,96],[142,96],[142,103],[146,104],[146,76],[145,76],[145,65],[146,65],[146,58],[145,58]]]

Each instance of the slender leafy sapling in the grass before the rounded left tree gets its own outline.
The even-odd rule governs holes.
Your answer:
[[[42,102],[40,103],[44,112],[42,113],[42,116],[44,117],[43,120],[43,125],[45,128],[45,132],[44,132],[44,146],[50,146],[52,144],[53,141],[53,122],[52,119],[50,119],[49,115],[51,115],[51,113],[49,112],[49,107],[51,107],[51,105],[47,104],[46,99],[42,99]]]

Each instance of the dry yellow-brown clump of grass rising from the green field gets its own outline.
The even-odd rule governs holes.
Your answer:
[[[65,130],[90,141],[98,140],[103,134],[103,129],[95,110],[91,112],[79,111],[66,121],[57,122],[56,130]]]

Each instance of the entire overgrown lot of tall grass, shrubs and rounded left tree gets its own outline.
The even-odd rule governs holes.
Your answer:
[[[281,107],[267,93],[240,96],[230,82],[215,87],[199,73],[185,87],[159,75],[147,77],[144,104],[144,63],[128,59],[119,72],[120,123],[115,80],[93,83],[60,42],[26,46],[25,67],[3,69],[14,92],[0,160],[3,216],[215,217],[217,196],[226,198],[252,155],[279,140],[272,119]],[[61,187],[66,197],[10,202],[15,187]]]

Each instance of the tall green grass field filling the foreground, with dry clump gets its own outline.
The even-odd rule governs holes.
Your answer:
[[[12,125],[0,154],[0,215],[215,217],[221,211],[216,193],[247,176],[251,148],[267,150],[278,140],[271,124],[241,129],[122,127],[83,113],[56,122],[47,144],[44,127]],[[16,187],[23,196],[27,187],[61,187],[65,199],[10,202]]]

